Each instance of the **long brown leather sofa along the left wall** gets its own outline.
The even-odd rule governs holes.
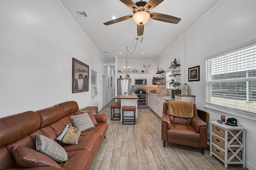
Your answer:
[[[36,149],[35,136],[41,134],[56,141],[70,116],[80,114],[75,101],[60,103],[40,111],[27,111],[0,119],[0,170],[51,170],[50,167],[20,168],[12,155],[12,146]],[[98,125],[82,132],[77,145],[61,144],[68,161],[58,163],[63,170],[88,170],[108,129],[106,114],[94,115]],[[58,142],[59,143],[59,142]],[[61,142],[60,142],[61,143]]]

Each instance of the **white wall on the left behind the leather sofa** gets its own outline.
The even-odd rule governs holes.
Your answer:
[[[108,90],[108,77],[114,77],[114,71],[61,2],[0,3],[0,117],[72,100],[80,108],[98,106],[100,110],[102,75],[106,103],[114,97],[114,90]],[[72,94],[72,57],[89,65],[89,74],[91,69],[98,72],[98,97],[91,99],[90,88]]]

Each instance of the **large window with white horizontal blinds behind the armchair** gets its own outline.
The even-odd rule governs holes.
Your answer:
[[[206,103],[256,113],[256,44],[206,59]]]

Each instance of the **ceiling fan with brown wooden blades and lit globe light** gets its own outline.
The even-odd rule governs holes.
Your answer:
[[[149,12],[164,0],[149,0],[148,2],[144,2],[141,0],[139,2],[136,2],[136,4],[134,4],[132,0],[120,0],[120,1],[126,4],[128,7],[130,7],[133,10],[134,14],[123,16],[121,18],[117,18],[109,22],[105,22],[104,24],[106,26],[132,18],[134,22],[137,24],[138,36],[142,36],[144,32],[144,24],[146,24],[146,22],[148,22],[148,19],[150,18],[153,20],[169,22],[172,24],[178,24],[178,22],[180,22],[181,20],[180,18],[177,18],[174,16],[159,14],[156,12]]]

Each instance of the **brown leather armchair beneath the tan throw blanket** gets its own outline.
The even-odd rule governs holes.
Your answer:
[[[168,103],[164,103],[162,115],[164,147],[167,141],[196,148],[201,147],[201,152],[204,154],[204,148],[207,147],[207,124],[198,117],[195,104],[193,107],[193,118],[182,118],[169,115]]]

